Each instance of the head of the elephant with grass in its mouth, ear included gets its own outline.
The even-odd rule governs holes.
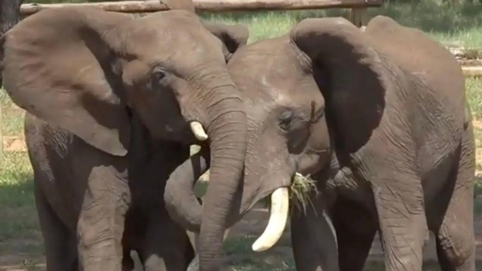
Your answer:
[[[226,226],[256,201],[272,197],[267,229],[254,250],[268,249],[281,236],[288,216],[286,190],[296,172],[329,170],[334,157],[356,163],[352,154],[378,125],[385,89],[396,85],[392,74],[399,70],[374,48],[344,18],[309,18],[287,35],[244,46],[228,62],[245,96],[248,142],[242,196],[236,199],[241,203]],[[172,212],[179,212],[178,220],[186,218],[182,222],[199,223],[196,202],[179,191],[166,189],[177,193],[165,195],[174,201]]]

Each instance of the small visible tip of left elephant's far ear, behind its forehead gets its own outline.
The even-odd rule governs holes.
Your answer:
[[[239,48],[246,45],[249,38],[249,29],[244,25],[225,25],[225,24],[203,24],[214,36],[218,37],[223,43],[223,53],[226,60]]]

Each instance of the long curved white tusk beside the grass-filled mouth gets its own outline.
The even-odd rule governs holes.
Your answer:
[[[265,251],[280,240],[288,219],[288,207],[288,188],[278,188],[271,194],[271,211],[268,225],[263,234],[251,246],[254,251]]]

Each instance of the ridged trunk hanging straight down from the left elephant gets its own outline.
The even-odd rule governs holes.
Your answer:
[[[224,232],[246,153],[246,114],[241,97],[236,95],[238,90],[232,81],[214,90],[204,99],[210,103],[207,133],[211,138],[211,165],[198,240],[200,271],[220,268]]]

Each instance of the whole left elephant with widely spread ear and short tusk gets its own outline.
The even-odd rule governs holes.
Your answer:
[[[189,144],[199,143],[191,121],[209,136],[207,194],[223,195],[204,203],[216,224],[203,225],[200,240],[223,238],[218,206],[238,186],[246,144],[226,61],[246,40],[245,27],[203,25],[191,11],[133,20],[95,8],[43,10],[1,37],[4,86],[27,110],[47,270],[76,270],[78,257],[84,270],[119,271],[121,243],[140,250],[147,270],[185,268],[185,231],[157,201]],[[139,136],[139,124],[148,133]],[[137,147],[146,136],[147,147]],[[132,236],[121,242],[123,233]]]

